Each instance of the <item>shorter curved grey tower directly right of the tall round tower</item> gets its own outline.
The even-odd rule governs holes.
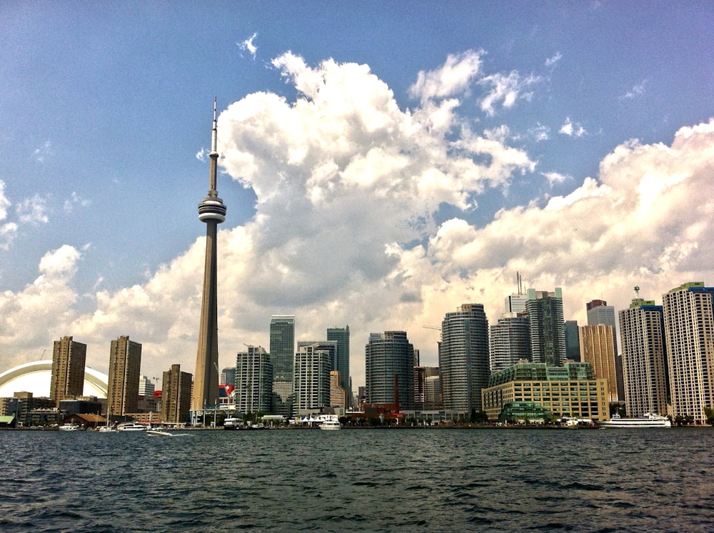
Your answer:
[[[515,365],[531,355],[531,337],[528,333],[528,315],[503,313],[496,324],[491,325],[489,344],[491,372]]]

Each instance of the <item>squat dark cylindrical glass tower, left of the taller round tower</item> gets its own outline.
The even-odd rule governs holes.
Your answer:
[[[366,402],[398,405],[411,410],[414,402],[414,346],[406,331],[370,333],[365,346]]]

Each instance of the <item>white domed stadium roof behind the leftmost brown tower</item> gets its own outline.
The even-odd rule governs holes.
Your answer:
[[[0,397],[12,397],[14,392],[32,392],[34,396],[49,396],[52,361],[26,362],[0,374]],[[84,396],[106,398],[109,376],[94,368],[84,368]]]

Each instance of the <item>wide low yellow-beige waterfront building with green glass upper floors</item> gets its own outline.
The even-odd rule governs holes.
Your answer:
[[[589,362],[565,362],[562,366],[521,362],[493,372],[482,396],[483,410],[493,421],[503,422],[509,410],[523,410],[525,407],[518,405],[522,402],[533,404],[531,412],[543,407],[545,416],[610,418],[608,380],[595,377]]]

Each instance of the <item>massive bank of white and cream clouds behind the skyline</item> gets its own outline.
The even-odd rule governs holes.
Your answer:
[[[221,113],[218,190],[234,186],[229,177],[257,198],[248,223],[231,228],[229,210],[218,236],[221,365],[234,364],[243,343],[267,347],[278,313],[296,314],[296,340],[350,325],[355,385],[372,331],[407,330],[423,364],[436,365],[438,333],[423,325],[467,302],[484,303],[495,321],[517,270],[527,287],[563,287],[566,318],[581,323],[585,301],[624,308],[634,285],[660,300],[685,281],[714,283],[714,121],[680,128],[670,145],[625,141],[567,195],[474,223],[483,193],[537,166],[508,145],[508,128],[474,131],[461,116],[469,98],[488,101],[481,108],[491,114],[523,91],[517,73],[484,76],[480,58],[449,56],[418,73],[417,105],[403,109],[366,65],[309,66],[283,54],[273,66],[296,89],[293,101],[251,93]],[[563,133],[577,135],[581,126],[567,124]],[[0,215],[7,205],[0,189]],[[445,205],[456,213],[448,220]],[[131,335],[144,345],[144,374],[175,362],[193,372],[203,250],[201,238],[146,283],[91,295],[73,288],[83,250],[47,253],[34,283],[0,294],[5,365],[36,360],[41,347],[74,335],[89,345],[88,364],[106,369],[110,340]],[[76,310],[79,298],[94,310]]]

